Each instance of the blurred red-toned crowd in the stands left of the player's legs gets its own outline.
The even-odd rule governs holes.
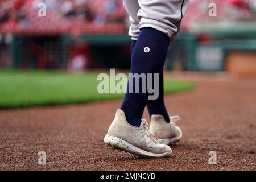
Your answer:
[[[126,13],[122,0],[0,0],[0,24],[15,24],[37,15],[39,3],[56,18],[80,19],[95,23],[123,23]]]

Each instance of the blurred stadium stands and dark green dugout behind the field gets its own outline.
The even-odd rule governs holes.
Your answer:
[[[1,0],[0,68],[129,69],[128,26],[122,0]],[[166,68],[254,74],[255,60],[255,0],[191,0]]]

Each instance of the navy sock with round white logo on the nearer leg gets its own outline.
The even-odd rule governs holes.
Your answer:
[[[130,73],[158,73],[161,75],[169,43],[170,39],[163,32],[150,27],[142,28],[131,55]],[[139,86],[141,88],[141,84]],[[127,86],[127,90],[129,90],[129,86]],[[148,92],[127,92],[125,94],[121,109],[125,112],[127,122],[134,126],[141,124],[147,101]]]

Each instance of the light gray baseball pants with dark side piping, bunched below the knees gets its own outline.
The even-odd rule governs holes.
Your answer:
[[[175,39],[189,0],[123,0],[130,15],[129,35],[137,40],[141,28],[151,27]]]

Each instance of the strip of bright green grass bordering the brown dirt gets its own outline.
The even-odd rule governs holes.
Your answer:
[[[123,94],[97,92],[96,72],[81,75],[67,72],[0,71],[0,108],[63,105],[122,98]],[[174,93],[195,87],[189,81],[164,81],[164,92]]]

